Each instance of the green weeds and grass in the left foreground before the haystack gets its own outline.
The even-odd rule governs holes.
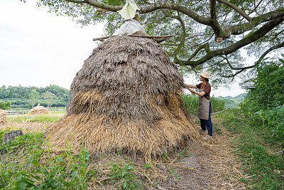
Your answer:
[[[0,129],[1,137],[4,132]],[[104,164],[89,162],[92,154],[84,149],[80,154],[59,154],[43,149],[43,144],[43,132],[27,132],[0,144],[0,189],[87,189],[102,175],[99,167]],[[109,169],[101,184],[118,189],[136,186],[131,162],[111,164]]]

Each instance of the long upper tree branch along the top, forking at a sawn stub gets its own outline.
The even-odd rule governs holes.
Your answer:
[[[73,2],[73,3],[77,3],[77,4],[89,4],[90,6],[94,6],[96,8],[99,9],[104,9],[107,11],[119,11],[122,9],[122,5],[121,6],[111,6],[108,4],[102,4],[99,3],[97,1],[93,1],[93,0],[64,0],[64,1],[68,1],[68,2]],[[237,6],[234,6],[234,4],[231,4],[229,2],[227,2],[226,0],[217,0],[219,2],[222,2],[223,4],[226,4],[227,6],[230,6],[232,9],[236,10],[239,12],[239,14],[241,14],[242,16],[244,16],[244,18],[249,19],[250,17],[246,16],[246,14],[244,14],[243,11],[241,11],[241,9],[239,9]],[[215,33],[215,40],[218,41],[217,42],[221,42],[222,40],[229,38],[229,36],[231,36],[231,34],[233,35],[238,35],[241,33],[244,33],[245,31],[249,31],[252,28],[258,26],[259,23],[263,23],[266,21],[271,21],[273,19],[276,19],[280,16],[284,16],[284,9],[278,9],[276,11],[271,11],[267,14],[263,14],[261,16],[258,16],[256,18],[253,19],[249,19],[249,23],[245,23],[241,26],[228,26],[226,28],[224,28],[224,30],[222,31],[221,26],[219,25],[216,17],[216,10],[215,10],[215,5],[216,4],[216,0],[210,0],[210,14],[211,17],[207,16],[200,16],[199,14],[196,14],[195,11],[192,11],[191,9],[188,9],[187,6],[182,6],[181,4],[175,4],[174,2],[168,2],[168,1],[160,1],[157,2],[155,4],[149,4],[147,6],[144,6],[141,8],[141,13],[142,14],[146,14],[152,11],[156,11],[159,9],[170,9],[170,10],[175,10],[178,11],[182,14],[185,14],[187,16],[190,16],[190,18],[192,18],[193,20],[197,21],[198,23],[202,23],[204,25],[207,26],[211,26],[214,33]]]

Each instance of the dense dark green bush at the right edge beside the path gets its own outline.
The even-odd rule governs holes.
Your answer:
[[[284,60],[263,61],[255,72],[241,111],[250,118],[251,127],[258,126],[266,138],[284,145]]]

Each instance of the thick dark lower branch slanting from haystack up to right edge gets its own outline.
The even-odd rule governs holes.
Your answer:
[[[229,53],[233,53],[234,51],[239,50],[239,48],[244,47],[244,46],[258,40],[259,38],[266,35],[266,33],[271,31],[273,28],[278,26],[278,24],[280,24],[283,21],[284,21],[284,16],[280,17],[278,19],[273,19],[272,21],[269,21],[268,23],[264,24],[257,31],[251,33],[249,36],[246,36],[246,38],[241,39],[240,41],[232,44],[229,47],[207,52],[207,54],[203,58],[200,58],[199,60],[193,60],[193,61],[178,60],[177,63],[182,64],[182,65],[192,65],[193,67],[196,67],[197,65],[200,65],[200,64],[206,62],[207,60],[214,58],[215,56],[228,55]],[[194,55],[194,54],[192,54],[192,55]]]

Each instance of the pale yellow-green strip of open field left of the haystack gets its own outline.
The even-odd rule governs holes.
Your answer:
[[[56,122],[64,116],[64,113],[50,113],[48,115],[9,115],[9,122]]]

